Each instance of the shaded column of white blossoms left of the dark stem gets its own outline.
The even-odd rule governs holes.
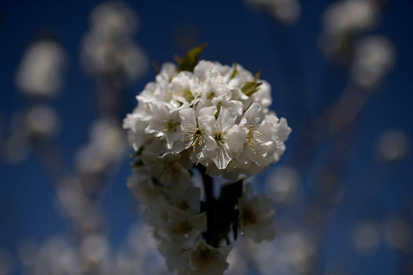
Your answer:
[[[152,156],[155,162],[156,158]],[[181,173],[189,177],[189,172],[176,162],[176,155],[166,158],[170,161],[168,165],[150,166],[156,169],[153,172],[157,176],[164,177],[172,172],[171,179]],[[161,186],[151,179],[150,170],[149,167],[135,168],[128,179],[128,187],[145,205],[145,223],[154,229],[166,266],[177,274],[223,274],[228,268],[226,259],[233,245],[214,248],[202,240],[202,233],[207,231],[207,215],[197,211],[201,190],[193,187],[189,180],[173,188]]]

